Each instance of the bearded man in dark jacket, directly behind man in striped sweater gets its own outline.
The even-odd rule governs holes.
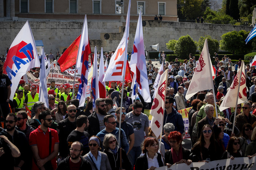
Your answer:
[[[105,99],[98,98],[95,100],[96,111],[88,119],[91,125],[88,127],[90,137],[97,135],[99,131],[105,128],[103,119],[107,115]],[[93,126],[92,126],[93,125]]]

